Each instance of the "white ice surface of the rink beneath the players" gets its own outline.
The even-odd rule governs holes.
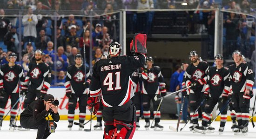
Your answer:
[[[77,122],[77,121],[76,121]],[[152,122],[152,120],[150,121]],[[17,121],[19,125],[19,121]],[[199,122],[201,123],[201,121]],[[92,122],[92,131],[78,131],[78,126],[74,125],[72,131],[67,129],[67,120],[60,120],[58,123],[58,127],[55,130],[55,133],[52,133],[48,139],[102,139],[103,131],[94,131],[93,126],[96,124],[96,120]],[[248,136],[235,136],[231,130],[231,121],[226,123],[224,133],[219,135],[219,121],[215,121],[212,125],[215,127],[215,133],[210,134],[201,134],[201,133],[192,133],[189,131],[189,126],[185,126],[182,132],[173,132],[169,129],[169,126],[176,127],[177,120],[161,120],[160,124],[164,126],[163,131],[154,131],[150,129],[146,131],[144,128],[145,121],[141,120],[140,125],[141,128],[135,131],[135,135],[133,139],[256,139],[256,128],[252,128],[251,123],[249,123],[249,133]],[[183,127],[184,124],[180,124],[180,128]],[[90,123],[85,125],[86,129],[90,128]],[[9,131],[9,121],[3,121],[2,129],[0,130],[0,139],[35,139],[36,138],[36,130],[30,131]]]

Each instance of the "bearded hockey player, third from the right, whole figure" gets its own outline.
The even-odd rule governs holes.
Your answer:
[[[191,64],[189,64],[184,74],[184,82],[187,87],[189,87],[191,83],[196,84],[195,87],[189,88],[190,118],[193,123],[193,126],[189,128],[190,131],[192,131],[195,126],[198,126],[198,111],[195,112],[195,110],[202,102],[202,94],[204,92],[204,85],[206,85],[209,65],[198,60],[196,51],[189,53],[189,59],[191,60]]]

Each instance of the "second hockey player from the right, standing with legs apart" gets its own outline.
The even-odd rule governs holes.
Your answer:
[[[206,99],[204,114],[202,116],[202,126],[195,126],[194,130],[199,133],[213,133],[214,129],[208,127],[209,120],[211,119],[211,113],[217,103],[219,103],[219,110],[225,107],[221,113],[221,124],[219,133],[222,134],[224,126],[227,121],[227,110],[226,105],[228,100],[228,94],[230,92],[229,82],[229,69],[223,67],[223,56],[216,55],[214,57],[216,67],[211,67],[207,76],[207,85],[203,98]]]

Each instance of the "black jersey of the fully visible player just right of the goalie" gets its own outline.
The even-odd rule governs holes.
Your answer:
[[[141,74],[141,81],[141,94],[160,95],[160,88],[165,88],[164,78],[158,66],[154,66],[151,69],[144,69]]]

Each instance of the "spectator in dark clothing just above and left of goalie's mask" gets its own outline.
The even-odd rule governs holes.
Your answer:
[[[110,35],[108,34],[108,27],[104,26],[102,28],[102,34],[96,38],[96,41],[98,41],[98,44],[101,48],[103,48],[104,45],[111,44],[113,40],[111,39]]]

